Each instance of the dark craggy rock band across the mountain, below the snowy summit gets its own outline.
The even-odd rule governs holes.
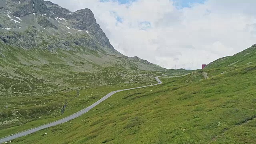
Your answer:
[[[50,51],[57,50],[58,48],[75,51],[73,49],[75,46],[80,46],[80,48],[84,50],[98,50],[98,48],[100,48],[100,46],[98,46],[89,36],[84,37],[61,34],[58,37],[49,40],[49,37],[47,37],[44,32],[38,31],[35,26],[30,26],[25,32],[0,33],[0,41],[14,47],[22,47],[24,49],[47,49]]]

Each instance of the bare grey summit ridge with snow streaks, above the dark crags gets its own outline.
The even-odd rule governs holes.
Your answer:
[[[26,28],[28,26],[36,26],[37,29],[41,30],[49,28],[48,30],[45,30],[52,35],[64,32],[71,33],[72,30],[70,28],[74,28],[78,31],[86,31],[87,34],[89,33],[88,31],[90,31],[90,35],[94,37],[97,42],[102,44],[104,48],[108,49],[110,52],[120,54],[114,50],[114,47],[110,44],[108,38],[97,24],[94,14],[90,9],[82,9],[73,13],[56,4],[54,5],[49,1],[24,0],[21,2],[19,1],[18,4],[17,2],[18,1],[11,2],[10,0],[7,0],[6,6],[1,7],[2,13],[4,13],[1,16],[2,19],[5,18],[8,20],[8,18],[10,18],[11,20],[9,21],[14,21],[12,24],[10,22],[8,24],[6,24],[6,22],[1,22],[3,31],[15,31],[17,28],[23,29],[23,27]],[[24,18],[24,22],[22,21],[23,17],[30,17],[30,20]],[[68,20],[72,21],[69,22]],[[44,27],[38,28],[37,23],[41,27]],[[50,30],[52,27],[55,30]],[[61,30],[58,31],[58,29]]]

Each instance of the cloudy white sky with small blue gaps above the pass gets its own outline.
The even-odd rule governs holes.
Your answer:
[[[256,43],[256,0],[51,0],[90,8],[116,50],[197,69]]]

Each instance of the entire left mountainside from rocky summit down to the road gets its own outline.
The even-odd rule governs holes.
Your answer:
[[[187,72],[124,56],[90,9],[71,12],[49,1],[0,0],[0,130],[44,124],[113,90]]]

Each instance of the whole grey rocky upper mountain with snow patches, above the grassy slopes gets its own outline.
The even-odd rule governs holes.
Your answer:
[[[1,36],[4,43],[24,49],[40,46],[49,50],[72,50],[73,47],[80,46],[120,54],[97,24],[92,10],[85,8],[71,12],[50,1],[1,0],[0,32],[4,32]],[[73,35],[72,40],[64,40],[68,35]],[[53,42],[48,38],[52,36],[57,36],[60,40]],[[42,40],[44,38],[46,39]],[[28,43],[28,39],[33,42]],[[42,41],[47,45],[41,46]]]

